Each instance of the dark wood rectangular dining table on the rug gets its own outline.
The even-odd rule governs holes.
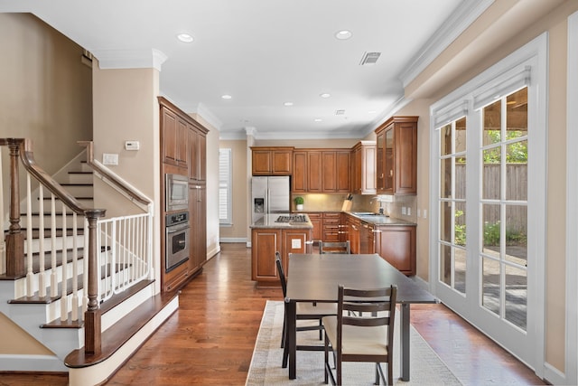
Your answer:
[[[290,254],[287,269],[287,344],[289,378],[296,378],[296,319],[298,302],[337,303],[338,286],[378,288],[397,286],[396,303],[400,305],[401,377],[409,381],[409,306],[415,303],[437,303],[432,294],[407,278],[378,254],[316,255]]]

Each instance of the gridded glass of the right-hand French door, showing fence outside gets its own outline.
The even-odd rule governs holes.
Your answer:
[[[481,305],[527,328],[527,88],[482,110]]]

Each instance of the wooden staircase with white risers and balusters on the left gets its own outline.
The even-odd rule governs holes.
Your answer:
[[[29,151],[24,141],[15,146],[10,140],[0,139],[0,145],[8,145],[11,152],[16,147],[21,152]],[[82,146],[88,151],[55,174],[57,180],[51,182],[66,191],[64,199],[70,195],[81,209],[93,206],[96,178],[92,145]],[[85,157],[89,157],[88,163],[82,161]],[[107,173],[96,167],[100,175]],[[5,179],[11,182],[11,200],[13,178]],[[11,203],[5,263],[0,264],[0,314],[6,316],[3,320],[0,315],[0,326],[5,333],[23,334],[33,349],[0,355],[0,372],[69,372],[70,385],[99,384],[172,315],[178,307],[178,295],[157,293],[152,275],[130,279],[135,275],[135,265],[144,267],[145,263],[135,259],[133,252],[131,259],[117,257],[121,252],[127,254],[128,248],[101,227],[98,217],[104,216],[104,211],[83,209],[85,213],[97,213],[96,219],[86,221],[74,205],[65,207],[60,196],[43,193],[45,189],[51,191],[39,188],[18,203],[17,213],[25,225],[20,225],[19,219],[14,226],[16,211]],[[16,237],[14,227],[19,228]],[[97,239],[94,236],[98,234]],[[14,249],[14,244],[19,238],[24,240],[20,258],[16,259],[19,248]],[[100,239],[112,241],[96,249]]]

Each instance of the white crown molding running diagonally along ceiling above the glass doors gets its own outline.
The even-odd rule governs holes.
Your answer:
[[[454,40],[460,36],[495,0],[465,0],[450,15],[442,26],[425,42],[411,64],[403,71],[399,79],[404,88],[425,70]]]

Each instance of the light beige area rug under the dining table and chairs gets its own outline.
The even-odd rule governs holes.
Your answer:
[[[289,380],[288,369],[281,367],[283,349],[281,330],[283,328],[283,302],[267,300],[261,326],[256,338],[255,350],[251,366],[247,374],[247,386],[255,385],[322,385],[323,384],[323,352],[297,352],[297,379]],[[301,321],[300,321],[301,322]],[[305,321],[303,321],[305,322]],[[399,317],[396,317],[399,323]],[[396,326],[399,331],[399,326]],[[445,363],[433,352],[424,338],[411,326],[411,362],[410,381],[400,381],[399,378],[399,335],[394,341],[394,380],[396,385],[461,385],[461,382],[447,368]],[[298,344],[322,344],[319,332],[299,332]],[[384,372],[387,365],[382,364]],[[363,385],[375,381],[375,364],[343,363],[343,384]]]

